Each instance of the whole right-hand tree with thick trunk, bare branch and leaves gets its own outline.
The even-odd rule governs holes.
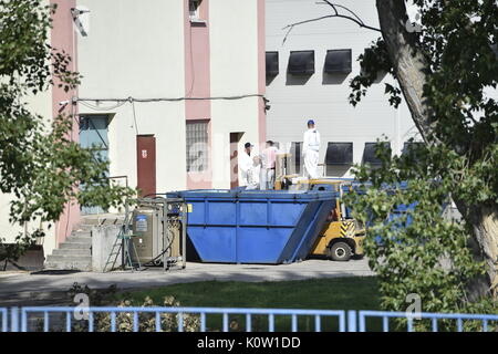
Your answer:
[[[496,299],[498,104],[492,94],[498,80],[498,4],[495,0],[412,0],[421,21],[414,28],[407,0],[376,0],[381,28],[375,29],[349,9],[324,2],[333,13],[322,18],[347,18],[382,34],[359,58],[362,73],[351,81],[351,104],[360,103],[378,72],[391,73],[400,88],[386,84],[390,103],[397,107],[402,98],[406,101],[425,143],[393,158],[378,146],[383,166],[356,170],[357,178],[372,188],[350,202],[372,226],[367,253],[381,274],[385,308],[400,310],[411,289],[423,293],[432,310],[463,309],[483,298]],[[319,19],[303,22],[314,20]],[[386,188],[402,181],[409,188]],[[463,216],[459,223],[440,216],[442,205],[452,200]],[[393,218],[403,205],[414,208]],[[406,226],[407,219],[413,221],[411,227],[396,227]],[[442,264],[443,258],[449,266]],[[409,285],[390,288],[390,282],[403,277]],[[438,292],[438,288],[444,289]],[[449,300],[445,304],[438,302],[442,294]]]

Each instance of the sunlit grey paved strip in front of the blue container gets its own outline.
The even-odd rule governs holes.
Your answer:
[[[115,271],[111,273],[62,272],[28,273],[0,272],[0,300],[20,293],[65,291],[74,282],[92,289],[116,284],[118,289],[151,288],[172,283],[203,280],[282,281],[310,278],[373,275],[366,259],[349,262],[307,260],[280,266],[260,264],[204,264],[187,263],[185,270],[164,273],[159,269],[141,272]]]

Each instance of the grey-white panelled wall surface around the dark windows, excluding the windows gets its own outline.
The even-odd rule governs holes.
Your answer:
[[[378,27],[374,0],[335,1],[353,10],[365,23]],[[279,75],[267,86],[271,110],[267,115],[268,137],[277,142],[302,142],[309,118],[317,122],[322,137],[320,163],[324,163],[328,142],[353,142],[354,163],[361,163],[364,143],[375,142],[383,134],[391,140],[394,153],[403,142],[416,133],[405,104],[398,111],[390,106],[384,95],[386,76],[374,84],[362,102],[353,107],[347,96],[350,81],[360,72],[357,56],[376,40],[377,32],[361,29],[340,18],[325,19],[294,27],[282,44],[286,25],[322,17],[331,12],[325,4],[314,0],[267,0],[267,51],[279,52]],[[323,83],[323,64],[328,50],[352,49],[353,65],[347,76],[332,76]],[[314,50],[315,73],[305,84],[292,84],[287,75],[290,51]],[[346,176],[349,176],[346,174]]]

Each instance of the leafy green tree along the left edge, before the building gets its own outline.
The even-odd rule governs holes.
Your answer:
[[[85,149],[72,139],[76,116],[48,119],[27,104],[50,86],[69,92],[81,80],[69,69],[70,55],[48,44],[54,12],[39,0],[0,3],[0,191],[14,196],[11,222],[53,222],[68,201],[108,208],[133,194],[110,184],[108,162],[96,146]]]

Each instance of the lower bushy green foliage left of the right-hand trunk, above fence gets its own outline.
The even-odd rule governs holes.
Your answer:
[[[345,198],[369,226],[364,246],[378,274],[382,308],[405,311],[407,295],[416,293],[424,312],[469,311],[467,288],[485,267],[467,247],[466,223],[444,214],[455,181],[448,176],[427,178],[434,166],[452,165],[450,153],[421,145],[392,158],[382,144],[376,153],[382,167],[359,167],[355,174],[364,185]],[[398,212],[403,206],[414,208]]]

